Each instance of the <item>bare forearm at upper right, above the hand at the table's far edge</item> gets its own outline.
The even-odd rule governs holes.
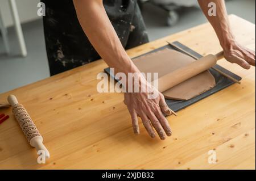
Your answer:
[[[214,28],[223,49],[229,49],[235,43],[232,30],[229,25],[228,14],[224,0],[198,0],[201,9]],[[216,16],[208,15],[208,4],[216,4]]]

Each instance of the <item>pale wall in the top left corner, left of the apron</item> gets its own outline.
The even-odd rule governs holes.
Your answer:
[[[39,0],[16,0],[20,22],[26,23],[30,22],[31,20],[42,18],[37,15],[37,5],[39,2]],[[3,19],[3,24],[5,24],[6,27],[13,26],[9,0],[0,0],[0,11]]]

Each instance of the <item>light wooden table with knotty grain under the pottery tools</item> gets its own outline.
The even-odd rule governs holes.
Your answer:
[[[230,22],[237,39],[255,49],[255,25],[235,15]],[[135,57],[167,40],[204,55],[221,50],[206,23],[127,52]],[[242,84],[168,117],[174,134],[165,141],[148,137],[141,123],[135,136],[123,94],[96,91],[96,75],[107,67],[102,60],[0,94],[3,103],[9,94],[18,97],[51,153],[37,164],[11,109],[1,110],[11,116],[0,125],[0,169],[255,169],[255,68],[218,64],[240,75]],[[216,151],[216,164],[208,163],[209,150]]]

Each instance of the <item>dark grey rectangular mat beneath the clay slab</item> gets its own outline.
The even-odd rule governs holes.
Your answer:
[[[191,53],[193,56],[196,56],[197,58],[201,58],[203,56],[201,56],[201,54],[196,53],[195,51],[193,51],[192,49],[186,47],[185,45],[179,43],[178,41],[175,41],[174,44],[185,50],[188,53]],[[152,53],[152,52],[158,52],[159,50],[165,49],[165,48],[170,48],[170,49],[175,49],[174,47],[172,47],[172,45],[166,45],[164,47],[160,47],[158,49],[152,50],[151,52],[147,52],[145,54],[148,53]],[[176,49],[177,50],[177,49]],[[178,50],[179,51],[179,50]],[[183,52],[182,52],[183,53]],[[144,54],[142,54],[141,56],[143,56]],[[140,56],[138,56],[140,57]],[[137,58],[137,57],[136,57]],[[231,77],[237,79],[238,81],[241,81],[241,77],[239,77],[238,75],[232,73],[229,70],[226,70],[225,68],[222,68],[222,66],[220,65],[215,65],[214,68],[217,68],[219,70],[221,70],[222,72],[230,75]],[[104,69],[104,71],[108,74],[110,74],[109,68]],[[202,100],[204,98],[206,98],[207,96],[210,96],[222,89],[225,89],[226,87],[229,87],[231,85],[233,85],[235,82],[230,80],[229,78],[226,78],[224,75],[221,75],[220,73],[218,73],[216,70],[210,69],[210,73],[212,73],[212,75],[215,78],[216,81],[216,86],[213,87],[212,89],[204,92],[203,94],[200,94],[198,96],[196,96],[195,98],[189,99],[189,100],[172,100],[172,99],[166,99],[166,103],[168,104],[168,106],[174,110],[175,112],[182,110],[185,107],[190,106],[193,103],[198,102],[199,100]],[[110,75],[112,78],[114,77],[113,75]]]

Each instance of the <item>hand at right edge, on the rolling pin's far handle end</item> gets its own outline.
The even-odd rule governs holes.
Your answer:
[[[240,65],[244,69],[255,66],[255,52],[238,43],[233,43],[229,48],[224,48],[224,57],[232,63]]]

